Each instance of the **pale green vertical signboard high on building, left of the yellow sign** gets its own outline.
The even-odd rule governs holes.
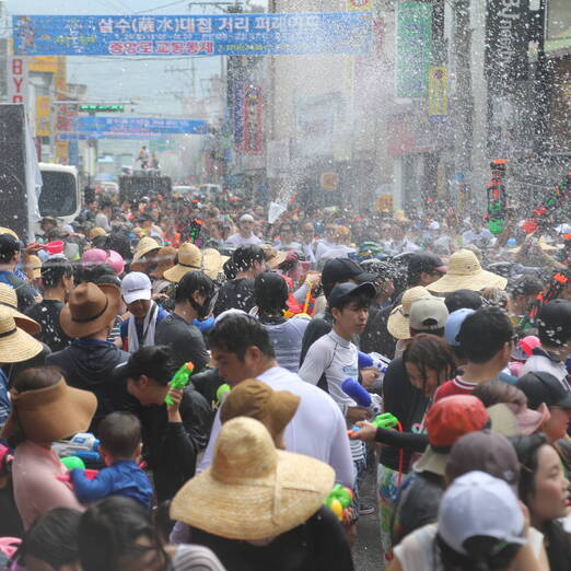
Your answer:
[[[432,40],[432,4],[397,4],[396,95],[426,97]]]

